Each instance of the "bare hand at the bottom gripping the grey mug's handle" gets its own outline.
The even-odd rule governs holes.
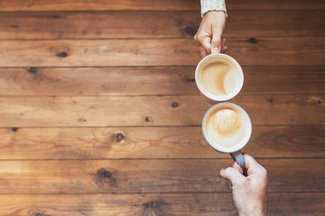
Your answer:
[[[266,215],[267,172],[253,157],[245,154],[247,177],[237,163],[221,169],[220,175],[230,182],[235,206],[240,216]]]

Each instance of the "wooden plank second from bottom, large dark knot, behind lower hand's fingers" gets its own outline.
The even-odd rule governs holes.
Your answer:
[[[260,153],[260,156],[262,153]],[[325,159],[258,159],[268,171],[268,192],[325,192]],[[228,159],[120,159],[0,161],[0,192],[226,193],[219,170]]]

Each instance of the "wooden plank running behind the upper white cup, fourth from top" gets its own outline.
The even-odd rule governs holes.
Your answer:
[[[244,66],[240,94],[325,94],[323,66]],[[195,67],[0,67],[0,95],[199,95]]]

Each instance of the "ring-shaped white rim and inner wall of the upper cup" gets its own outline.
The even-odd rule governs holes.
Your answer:
[[[214,94],[210,94],[208,91],[206,91],[198,82],[199,80],[199,67],[202,64],[202,62],[206,61],[209,58],[214,58],[214,57],[222,57],[222,58],[226,58],[229,61],[231,61],[236,67],[237,67],[237,71],[239,74],[239,84],[237,85],[237,87],[234,89],[234,91],[232,91],[230,94],[227,95],[214,95]],[[200,93],[205,95],[206,97],[208,97],[209,99],[213,100],[213,101],[217,101],[217,102],[224,102],[224,101],[228,101],[230,99],[232,99],[233,97],[235,97],[240,90],[242,89],[243,85],[244,85],[244,73],[243,73],[243,69],[242,67],[240,67],[240,65],[238,64],[237,60],[235,60],[234,58],[223,54],[223,53],[215,53],[215,54],[210,54],[209,56],[206,56],[205,58],[202,58],[198,64],[198,66],[196,67],[195,70],[195,82],[196,85],[198,86]]]

